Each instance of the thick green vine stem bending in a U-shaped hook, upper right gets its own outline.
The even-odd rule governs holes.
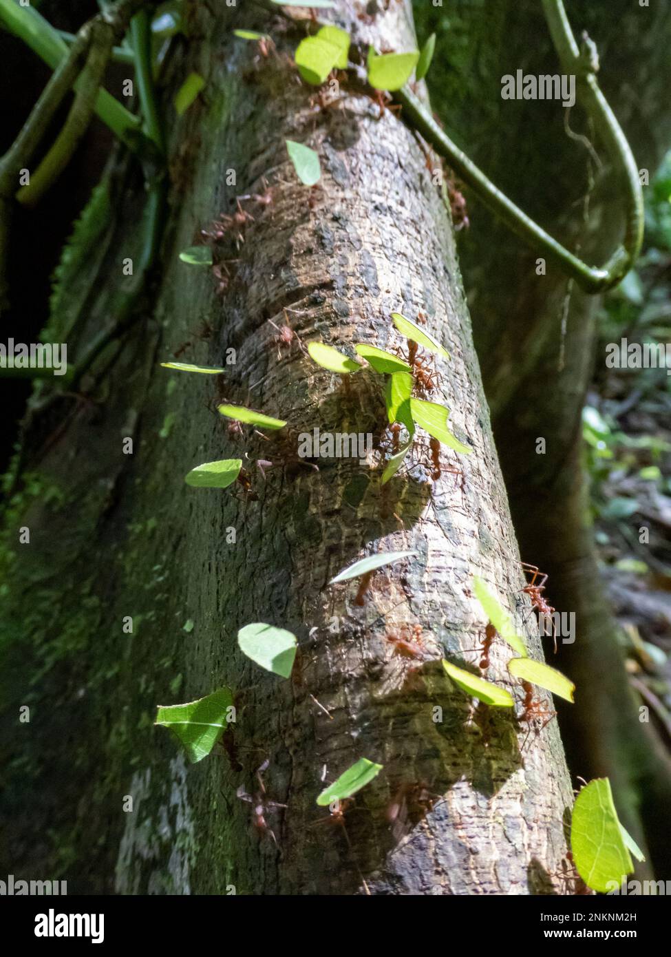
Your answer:
[[[578,256],[570,253],[508,199],[459,146],[450,140],[408,87],[399,90],[394,97],[403,106],[403,119],[414,126],[506,226],[530,246],[544,252],[586,292],[604,292],[615,286],[629,272],[640,252],[643,240],[643,197],[638,170],[626,137],[598,87],[593,68],[578,49],[562,0],[543,0],[543,7],[562,69],[575,75],[578,98],[604,141],[616,175],[626,190],[624,242],[600,269],[588,266]]]

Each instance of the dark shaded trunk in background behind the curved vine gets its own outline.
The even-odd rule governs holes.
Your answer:
[[[665,92],[671,4],[574,0],[566,6],[574,33],[586,28],[596,42],[602,88],[638,167],[652,175],[671,142]],[[450,64],[442,76],[434,68],[432,93],[442,118],[525,211],[570,249],[580,244],[588,261],[602,263],[621,241],[623,226],[620,191],[608,166],[595,171],[586,222],[587,152],[566,136],[560,104],[501,98],[504,74],[559,72],[540,4],[488,0],[484,11],[472,0],[457,0],[449,19],[449,30],[442,17],[436,20],[444,30],[438,48],[442,41]],[[458,95],[466,83],[468,100]],[[589,134],[578,108],[570,112],[570,125]],[[460,253],[513,521],[523,557],[548,572],[551,604],[576,615],[575,642],[561,645],[557,658],[579,689],[575,706],[560,709],[570,768],[586,778],[610,776],[627,827],[647,839],[664,875],[671,860],[669,763],[650,726],[638,721],[639,701],[599,578],[581,461],[580,416],[593,372],[599,300],[568,287],[554,267],[537,276],[541,254],[470,196],[469,203],[473,228]],[[538,437],[548,440],[544,456],[537,455]]]

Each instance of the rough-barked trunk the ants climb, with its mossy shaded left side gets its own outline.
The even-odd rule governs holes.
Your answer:
[[[413,45],[404,5],[370,25],[343,6],[341,22],[359,40]],[[453,235],[424,155],[366,97],[344,87],[344,102],[321,111],[281,53],[254,62],[254,47],[231,30],[267,27],[262,15],[199,10],[204,38],[173,73],[176,83],[197,70],[208,93],[172,134],[178,182],[160,281],[105,372],[101,404],[59,400],[27,435],[32,484],[8,523],[11,872],[59,870],[71,891],[119,893],[224,893],[233,884],[246,894],[350,894],[365,892],[364,878],[373,894],[561,893],[571,794],[556,722],[521,753],[526,727],[509,713],[486,723],[439,663],[478,660],[485,621],[472,576],[513,611],[522,578]],[[282,51],[277,21],[274,33]],[[289,34],[290,49],[299,35]],[[297,183],[285,138],[319,149],[317,189]],[[225,186],[231,168],[236,188]],[[260,191],[262,176],[277,184],[274,202],[255,212],[239,252],[220,248],[240,260],[222,297],[177,254],[235,195]],[[110,189],[109,220],[79,285],[84,338],[109,316],[121,261],[135,251],[141,184],[131,172]],[[359,373],[346,390],[296,345],[279,356],[269,321],[282,323],[283,307],[303,340],[345,348],[402,345],[391,311],[428,314],[452,354],[436,401],[474,450],[443,453],[462,489],[446,471],[433,499],[431,482],[395,479],[386,505],[398,521],[382,517],[379,470],[358,459],[321,459],[319,473],[278,461],[267,481],[255,479],[258,501],[183,484],[190,467],[241,448],[205,408],[210,381],[157,365],[203,319],[215,330],[211,346],[190,358],[215,364],[236,349],[220,383],[229,401],[287,418],[294,436],[383,428],[379,377]],[[122,454],[127,435],[132,456]],[[245,447],[252,458],[281,456],[277,440]],[[30,526],[31,545],[14,545],[20,525]],[[328,587],[364,553],[398,548],[416,557],[377,573],[363,608],[353,604],[355,584]],[[124,615],[134,617],[132,635]],[[250,621],[298,635],[294,679],[241,656],[235,634]],[[421,625],[432,658],[418,680],[406,680],[385,638],[404,622]],[[534,639],[530,648],[542,655]],[[506,683],[508,657],[496,643],[490,678]],[[154,706],[221,684],[238,692],[237,757],[187,768],[168,734],[151,728]],[[30,724],[16,724],[20,703],[32,705]],[[347,841],[338,827],[313,827],[315,797],[324,767],[333,780],[361,756],[385,769],[347,812]],[[254,790],[264,758],[268,796],[288,805],[269,817],[278,846],[253,831],[250,806],[235,798],[240,784]],[[431,812],[411,809],[399,840],[386,808],[416,782],[444,799]],[[132,813],[122,810],[126,794]]]

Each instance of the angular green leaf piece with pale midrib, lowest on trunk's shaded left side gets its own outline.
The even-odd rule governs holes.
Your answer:
[[[189,701],[188,704],[158,705],[156,724],[168,727],[186,748],[193,764],[212,751],[227,728],[227,711],[233,705],[229,688],[219,688],[212,695]]]

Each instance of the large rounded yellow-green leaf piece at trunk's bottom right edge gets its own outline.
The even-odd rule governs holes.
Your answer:
[[[590,781],[575,798],[570,850],[580,877],[601,894],[618,888],[634,870],[608,778]]]

